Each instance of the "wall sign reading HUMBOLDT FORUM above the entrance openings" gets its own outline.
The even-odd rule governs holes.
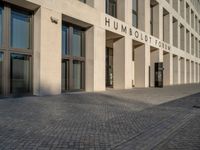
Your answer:
[[[108,15],[104,16],[104,19],[104,26],[110,31],[117,32],[122,35],[129,35],[136,41],[149,44],[156,48],[162,48],[167,51],[171,50],[171,46],[169,44],[134,27],[129,27],[127,24],[118,19]]]

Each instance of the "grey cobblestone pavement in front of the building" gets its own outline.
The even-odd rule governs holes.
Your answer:
[[[0,100],[1,150],[200,149],[200,85]]]

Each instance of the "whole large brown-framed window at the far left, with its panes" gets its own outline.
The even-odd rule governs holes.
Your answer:
[[[2,2],[0,5],[0,95],[31,94],[33,54],[31,33],[32,12],[8,3],[4,5]]]

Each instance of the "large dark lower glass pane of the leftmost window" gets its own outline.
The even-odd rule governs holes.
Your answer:
[[[11,86],[12,94],[30,92],[30,56],[11,54]]]

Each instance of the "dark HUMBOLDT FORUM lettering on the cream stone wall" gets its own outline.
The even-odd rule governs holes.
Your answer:
[[[144,32],[141,32],[133,27],[128,27],[125,24],[119,25],[119,22],[117,22],[117,20],[113,20],[112,22],[111,20],[111,18],[105,17],[105,26],[113,28],[114,30],[119,31],[121,33],[128,34],[133,39],[149,43],[150,45],[163,48],[165,50],[171,50],[171,46],[169,46],[167,43],[162,42],[150,35],[147,35]]]

